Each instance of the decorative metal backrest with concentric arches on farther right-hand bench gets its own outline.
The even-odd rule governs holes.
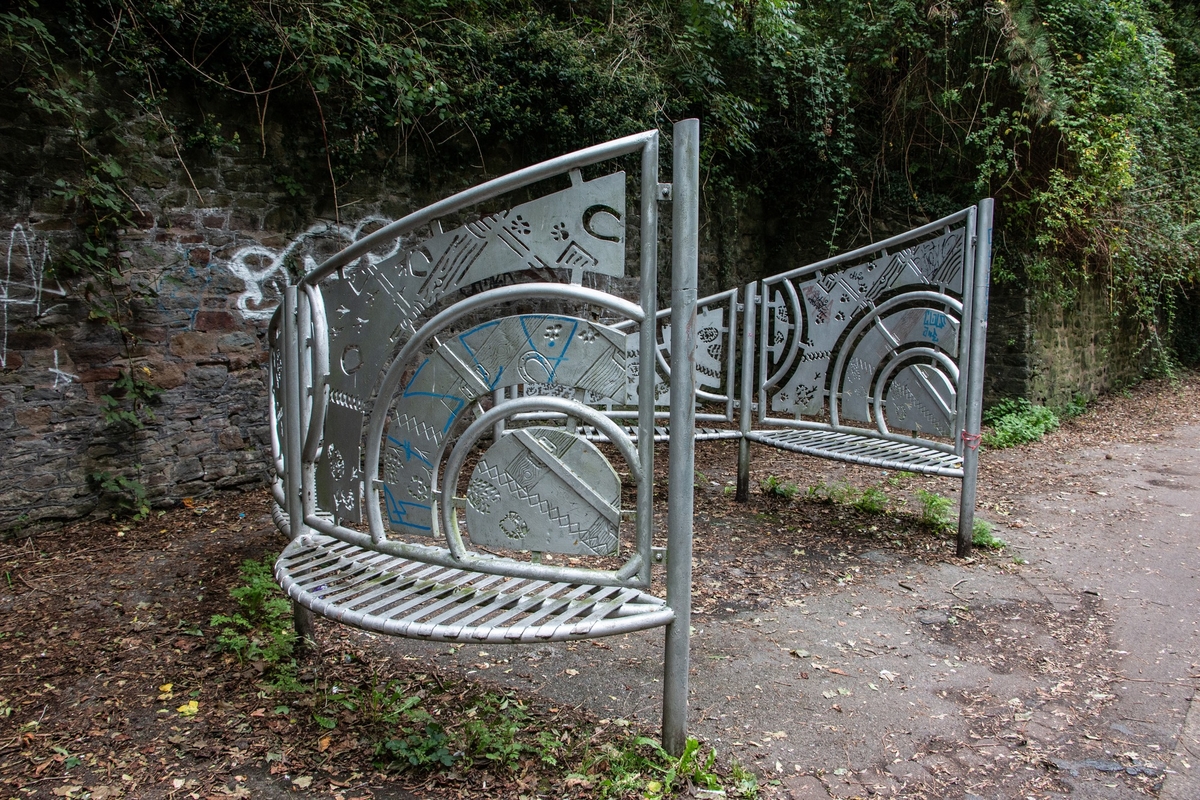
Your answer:
[[[895,252],[763,281],[769,411],[953,437],[967,251],[966,228],[947,225]]]

